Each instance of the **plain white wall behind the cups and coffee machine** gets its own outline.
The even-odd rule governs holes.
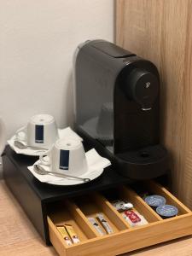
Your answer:
[[[0,115],[8,137],[35,113],[73,123],[72,64],[89,38],[113,41],[113,0],[0,0]]]

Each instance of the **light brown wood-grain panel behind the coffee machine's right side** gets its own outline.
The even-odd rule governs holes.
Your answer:
[[[192,207],[192,0],[116,0],[116,43],[153,61],[161,78],[161,142],[173,190]]]

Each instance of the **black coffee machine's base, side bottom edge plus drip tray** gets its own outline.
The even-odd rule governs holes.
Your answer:
[[[154,145],[139,150],[129,151],[122,154],[113,154],[102,143],[90,137],[79,126],[76,131],[90,148],[96,150],[111,160],[113,168],[120,175],[133,180],[147,180],[161,177],[168,173],[168,154],[162,145]]]

